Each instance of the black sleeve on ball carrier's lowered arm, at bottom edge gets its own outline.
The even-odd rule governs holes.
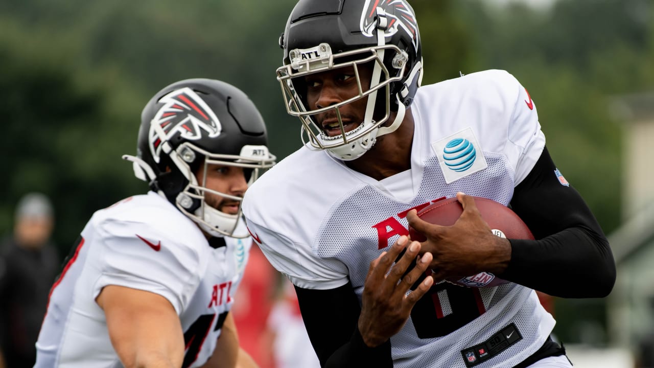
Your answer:
[[[309,339],[322,367],[392,367],[390,340],[370,348],[357,327],[361,307],[352,285],[331,290],[295,287]]]

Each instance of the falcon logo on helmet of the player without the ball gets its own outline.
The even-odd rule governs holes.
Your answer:
[[[167,141],[177,133],[190,141],[202,138],[203,131],[209,138],[220,136],[222,127],[218,117],[191,88],[170,92],[159,103],[163,106],[150,125],[150,151],[156,162],[159,162],[162,140]],[[155,124],[162,128],[164,137],[154,129]]]

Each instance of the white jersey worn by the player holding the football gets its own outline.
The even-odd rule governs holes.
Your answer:
[[[409,209],[459,191],[506,205],[545,146],[532,99],[506,71],[423,86],[411,112],[407,172],[377,181],[302,147],[247,191],[250,232],[295,285],[351,282],[361,300],[370,261],[408,234]],[[536,352],[554,324],[527,287],[439,283],[390,339],[392,358],[395,367],[511,367]]]

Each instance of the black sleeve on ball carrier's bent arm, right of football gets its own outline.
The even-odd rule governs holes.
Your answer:
[[[557,297],[605,297],[615,283],[613,254],[583,198],[555,175],[543,150],[513,193],[511,208],[537,240],[510,240],[502,278]]]

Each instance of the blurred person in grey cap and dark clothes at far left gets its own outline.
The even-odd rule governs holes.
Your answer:
[[[0,245],[0,350],[7,367],[34,365],[48,290],[60,267],[53,227],[50,199],[26,194],[16,207],[13,234]]]

